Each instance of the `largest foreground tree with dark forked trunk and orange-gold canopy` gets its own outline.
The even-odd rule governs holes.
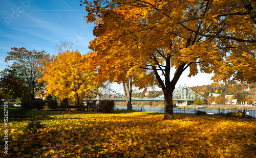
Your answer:
[[[154,72],[165,96],[164,119],[174,119],[172,93],[186,69],[189,76],[199,70],[214,72],[215,81],[230,77],[254,80],[253,75],[241,75],[253,71],[256,42],[251,39],[254,23],[247,19],[241,2],[113,0],[83,4],[87,5],[87,21],[97,24],[93,50],[106,57],[114,49],[125,50],[118,51],[119,56],[129,53],[141,69]],[[241,66],[233,69],[247,57],[252,60],[252,65],[244,62],[249,64],[247,71]]]

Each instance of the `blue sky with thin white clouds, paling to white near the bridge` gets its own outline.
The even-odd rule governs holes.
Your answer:
[[[73,49],[81,54],[91,51],[89,42],[94,39],[93,23],[84,20],[86,11],[80,0],[4,0],[0,6],[0,71],[6,68],[5,57],[11,47],[45,50],[57,54],[55,44],[72,42]],[[201,86],[210,84],[209,74],[188,78],[180,77],[178,85]]]

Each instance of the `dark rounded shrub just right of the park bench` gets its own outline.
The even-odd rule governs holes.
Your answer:
[[[97,112],[110,113],[114,111],[115,102],[113,100],[101,100],[96,103],[95,110]]]

